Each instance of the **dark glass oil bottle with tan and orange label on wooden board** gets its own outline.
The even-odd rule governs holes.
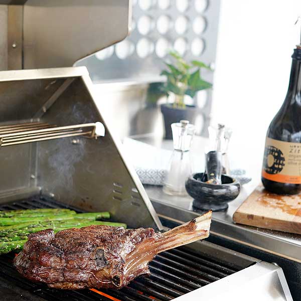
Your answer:
[[[285,100],[267,130],[261,181],[276,194],[301,192],[301,45],[292,55]]]

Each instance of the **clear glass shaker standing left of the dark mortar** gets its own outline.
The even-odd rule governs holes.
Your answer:
[[[169,195],[187,195],[185,181],[192,174],[190,147],[195,126],[187,120],[172,124],[174,152],[170,160],[169,172],[165,178],[163,191]]]

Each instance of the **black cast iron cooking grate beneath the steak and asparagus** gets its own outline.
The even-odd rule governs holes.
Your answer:
[[[70,208],[82,212],[44,197],[0,206],[0,210],[33,208]],[[23,278],[12,265],[14,256],[12,253],[0,256],[0,274],[12,284],[51,301],[168,301],[238,271],[231,263],[212,261],[191,249],[179,247],[157,255],[149,263],[149,277],[138,277],[119,290],[56,290]]]

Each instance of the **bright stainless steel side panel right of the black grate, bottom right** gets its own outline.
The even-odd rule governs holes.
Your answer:
[[[175,300],[292,301],[292,297],[282,269],[259,262]]]

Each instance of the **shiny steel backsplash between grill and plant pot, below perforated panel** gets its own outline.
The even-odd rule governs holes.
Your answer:
[[[147,102],[149,83],[95,84],[96,104],[111,131],[123,139],[129,135],[164,134],[159,105]]]

